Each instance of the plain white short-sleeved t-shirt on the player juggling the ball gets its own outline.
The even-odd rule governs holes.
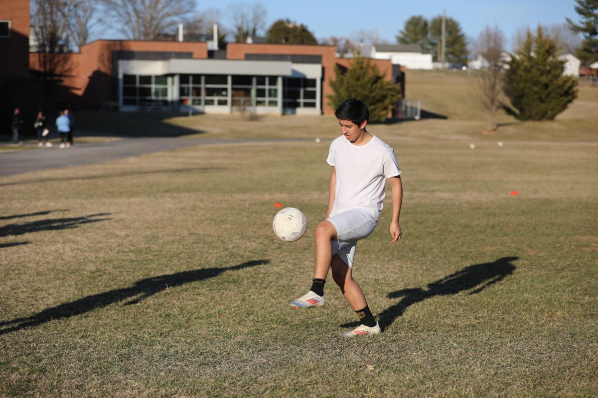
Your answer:
[[[386,178],[401,174],[392,148],[376,135],[364,145],[353,145],[341,135],[330,144],[326,161],[336,171],[330,215],[361,208],[377,220],[386,196]]]

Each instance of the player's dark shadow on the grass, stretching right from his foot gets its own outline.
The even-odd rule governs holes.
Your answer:
[[[515,270],[512,261],[519,257],[502,257],[492,263],[473,264],[460,271],[447,275],[435,282],[428,283],[425,288],[409,288],[390,292],[388,298],[402,298],[399,303],[386,308],[379,314],[379,325],[382,330],[388,328],[395,319],[407,310],[409,306],[420,303],[435,296],[454,295],[469,291],[468,295],[478,294],[488,286],[494,285],[511,275]],[[358,325],[356,322],[347,323],[345,327]]]

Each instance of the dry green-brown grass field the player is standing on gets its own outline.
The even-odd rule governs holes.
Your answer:
[[[422,99],[468,79],[417,76]],[[403,238],[387,200],[355,258],[378,336],[341,340],[356,319],[331,278],[325,307],[288,305],[310,286],[334,118],[148,115],[149,135],[323,141],[1,177],[0,396],[597,396],[598,91],[493,136],[441,91],[427,110],[449,119],[370,129],[404,184]],[[274,236],[276,202],[304,211],[303,239]]]

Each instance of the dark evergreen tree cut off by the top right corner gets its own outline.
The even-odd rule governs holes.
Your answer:
[[[576,24],[567,18],[573,32],[581,33],[584,41],[576,51],[579,60],[584,64],[598,61],[598,0],[576,0],[575,11],[581,17]]]

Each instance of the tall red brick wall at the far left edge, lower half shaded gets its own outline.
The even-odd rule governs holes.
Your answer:
[[[29,75],[29,0],[0,0],[0,20],[10,21],[10,38],[0,38],[0,81]]]

